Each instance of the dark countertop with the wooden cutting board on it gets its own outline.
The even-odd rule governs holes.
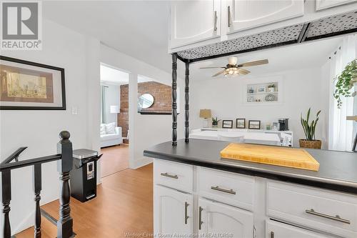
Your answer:
[[[144,150],[144,156],[357,194],[357,153],[306,149],[320,163],[318,172],[313,172],[222,159],[219,153],[228,144],[206,139],[186,143],[179,139],[176,147],[164,142]]]

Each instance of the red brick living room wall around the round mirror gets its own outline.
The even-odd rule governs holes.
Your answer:
[[[171,86],[156,81],[146,81],[138,84],[138,96],[151,94],[154,104],[141,111],[171,112]],[[120,113],[118,126],[122,128],[123,137],[127,137],[129,130],[129,84],[120,86]]]

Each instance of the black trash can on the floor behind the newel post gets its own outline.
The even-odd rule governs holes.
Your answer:
[[[71,170],[71,196],[86,202],[96,197],[96,162],[101,157],[91,149],[73,151],[73,169]]]

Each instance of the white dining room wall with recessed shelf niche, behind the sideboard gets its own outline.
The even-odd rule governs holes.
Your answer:
[[[282,77],[283,101],[281,104],[246,104],[243,102],[244,84],[250,84],[261,78]],[[280,86],[280,85],[279,85]],[[279,89],[279,90],[280,90]],[[262,129],[267,123],[277,122],[279,118],[289,119],[289,129],[294,133],[293,145],[298,146],[298,139],[304,137],[300,124],[300,114],[306,114],[309,107],[313,116],[322,109],[321,121],[318,124],[316,137],[326,140],[325,115],[328,114],[328,101],[321,93],[321,68],[281,71],[260,76],[244,76],[231,79],[191,80],[190,86],[190,123],[191,129],[202,127],[198,117],[199,109],[211,109],[213,116],[218,119],[246,118],[261,120]]]

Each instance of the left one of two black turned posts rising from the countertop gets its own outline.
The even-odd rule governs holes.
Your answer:
[[[172,54],[172,145],[177,145],[177,54]]]

